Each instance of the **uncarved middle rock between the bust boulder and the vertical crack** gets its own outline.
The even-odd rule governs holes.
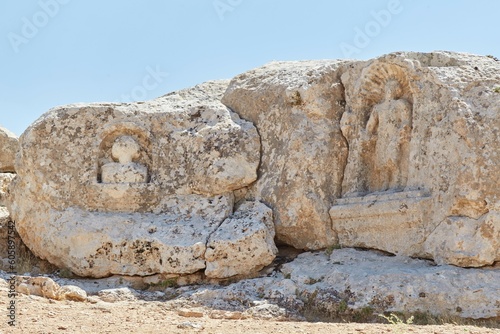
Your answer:
[[[328,210],[341,195],[347,146],[339,61],[277,62],[235,77],[222,102],[261,136],[259,179],[247,198],[273,208],[279,241],[318,249],[336,242]]]

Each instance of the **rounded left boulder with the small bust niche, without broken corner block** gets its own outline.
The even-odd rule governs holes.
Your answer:
[[[260,161],[255,127],[219,102],[226,86],[43,115],[21,136],[8,203],[26,245],[82,276],[204,269]]]

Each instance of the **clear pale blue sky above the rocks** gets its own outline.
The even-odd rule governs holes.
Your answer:
[[[273,60],[452,50],[500,58],[497,0],[2,0],[0,124],[148,100]]]

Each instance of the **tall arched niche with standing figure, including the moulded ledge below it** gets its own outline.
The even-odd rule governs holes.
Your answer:
[[[342,198],[330,209],[332,229],[348,247],[418,254],[430,194],[408,184],[413,94],[406,70],[377,63],[346,86],[340,120],[349,147]]]

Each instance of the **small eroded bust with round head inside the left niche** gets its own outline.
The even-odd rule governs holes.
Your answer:
[[[103,183],[147,182],[148,169],[133,160],[139,157],[141,147],[131,136],[118,137],[113,143],[111,156],[115,161],[102,166]]]

